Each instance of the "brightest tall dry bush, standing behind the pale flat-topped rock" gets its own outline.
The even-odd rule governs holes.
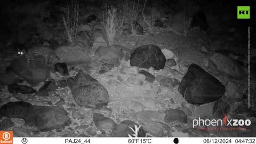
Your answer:
[[[124,22],[124,14],[115,7],[107,7],[102,16],[102,26],[105,30],[109,45],[114,44],[116,35],[121,33],[121,27]]]

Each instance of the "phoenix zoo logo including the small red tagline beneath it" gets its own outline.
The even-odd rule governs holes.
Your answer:
[[[250,119],[228,119],[225,114],[223,119],[193,119],[193,128],[197,127],[197,130],[246,130],[245,126],[250,125]]]

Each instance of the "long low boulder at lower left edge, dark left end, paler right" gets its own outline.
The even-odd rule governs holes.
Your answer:
[[[33,106],[28,102],[9,102],[0,108],[0,117],[22,118],[25,124],[40,131],[62,129],[71,124],[68,113],[61,107]]]

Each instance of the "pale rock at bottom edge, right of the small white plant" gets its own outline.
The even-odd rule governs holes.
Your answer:
[[[146,133],[150,133],[154,137],[163,137],[164,135],[164,131],[156,124],[149,123],[142,125],[142,127],[146,131]]]

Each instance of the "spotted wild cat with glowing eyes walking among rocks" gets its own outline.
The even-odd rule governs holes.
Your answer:
[[[49,47],[49,46],[36,46],[28,50],[28,52],[25,51],[25,49],[20,50],[18,49],[18,54],[20,56],[25,55],[25,58],[28,60],[27,66],[29,66],[29,63],[35,67],[35,57],[37,56],[43,56],[45,65],[49,62],[51,54],[60,60],[58,55],[55,54],[55,52]]]

